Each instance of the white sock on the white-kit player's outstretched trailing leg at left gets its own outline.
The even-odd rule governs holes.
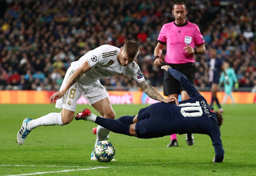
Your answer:
[[[61,119],[61,113],[50,113],[38,119],[28,121],[27,128],[29,130],[33,130],[34,128],[39,126],[53,126],[53,125],[60,125],[60,126],[63,125],[62,119]]]

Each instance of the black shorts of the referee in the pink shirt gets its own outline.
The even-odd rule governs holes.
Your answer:
[[[178,72],[182,73],[187,77],[187,79],[194,84],[195,83],[195,64],[194,63],[181,63],[181,64],[170,64],[165,63],[165,65],[171,66],[171,68],[177,70]],[[180,82],[177,81],[171,74],[168,72],[164,72],[163,75],[164,82],[163,82],[163,94],[165,96],[171,94],[180,94],[184,88],[181,86]]]

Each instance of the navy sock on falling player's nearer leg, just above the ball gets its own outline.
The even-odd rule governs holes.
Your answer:
[[[106,119],[97,116],[95,123],[110,131],[113,131],[114,133],[125,134],[130,136],[130,125],[120,122],[118,120]]]

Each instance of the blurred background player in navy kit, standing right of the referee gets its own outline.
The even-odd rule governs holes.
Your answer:
[[[207,61],[207,65],[209,67],[209,86],[211,87],[211,104],[210,107],[213,107],[214,101],[216,102],[220,113],[223,113],[223,109],[221,108],[221,105],[217,98],[217,91],[218,91],[218,83],[220,81],[221,72],[225,74],[225,80],[227,80],[228,84],[228,76],[225,72],[225,69],[223,67],[223,61],[216,57],[217,51],[215,48],[210,49],[210,58]]]

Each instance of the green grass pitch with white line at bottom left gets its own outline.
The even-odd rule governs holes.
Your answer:
[[[116,117],[135,115],[148,105],[113,105]],[[89,107],[79,105],[77,111]],[[93,113],[96,111],[90,107]],[[72,121],[66,126],[34,129],[23,145],[15,142],[23,119],[60,112],[54,104],[0,105],[0,175],[256,175],[256,105],[224,105],[221,127],[223,163],[213,163],[210,137],[194,134],[188,146],[177,135],[179,147],[167,148],[169,136],[138,139],[110,132],[116,148],[109,163],[90,161],[96,125]]]

